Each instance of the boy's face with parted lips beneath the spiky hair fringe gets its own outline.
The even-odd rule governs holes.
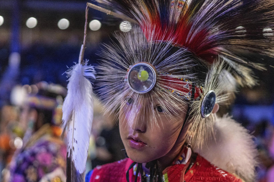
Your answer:
[[[180,146],[174,144],[180,134],[188,106],[182,106],[185,112],[180,113],[179,116],[174,116],[174,119],[171,120],[166,117],[165,111],[154,99],[152,103],[153,112],[157,112],[156,117],[154,117],[156,121],[150,122],[152,113],[150,109],[144,108],[152,104],[151,102],[144,102],[142,106],[138,107],[131,106],[131,98],[127,97],[124,102],[126,104],[122,103],[119,111],[119,129],[122,142],[130,159],[138,163],[146,163],[169,155],[174,146],[182,147],[182,144]],[[136,108],[138,109],[136,110]],[[135,118],[138,119],[129,122],[128,116],[132,112],[137,113]],[[154,122],[159,123],[159,126],[152,126]],[[185,138],[187,128],[187,126],[184,127],[180,138]]]

